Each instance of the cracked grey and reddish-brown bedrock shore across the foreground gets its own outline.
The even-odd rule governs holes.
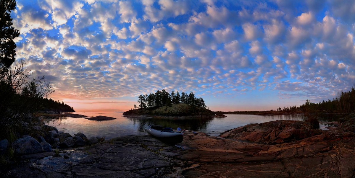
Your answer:
[[[354,177],[355,118],[319,130],[303,121],[249,124],[170,145],[126,136],[18,157],[3,177]],[[302,136],[302,137],[301,137]]]

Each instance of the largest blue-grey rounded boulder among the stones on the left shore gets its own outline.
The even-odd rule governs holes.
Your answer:
[[[24,137],[12,142],[11,146],[19,155],[35,154],[43,151],[42,145],[33,137]]]

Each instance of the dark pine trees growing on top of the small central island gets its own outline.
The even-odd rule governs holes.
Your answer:
[[[196,98],[195,94],[190,91],[189,94],[182,92],[181,95],[179,91],[171,91],[171,93],[166,90],[158,90],[155,93],[139,95],[138,108],[147,108],[147,107],[156,107],[156,106],[171,106],[173,104],[185,103],[191,106],[198,106],[206,108],[207,106],[204,104],[203,98]],[[136,105],[134,105],[134,109],[136,109]]]

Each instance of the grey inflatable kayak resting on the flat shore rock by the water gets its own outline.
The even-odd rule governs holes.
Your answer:
[[[165,141],[180,143],[184,139],[184,134],[180,132],[174,132],[170,127],[161,126],[148,126],[147,132],[152,134],[154,137],[163,139]]]

